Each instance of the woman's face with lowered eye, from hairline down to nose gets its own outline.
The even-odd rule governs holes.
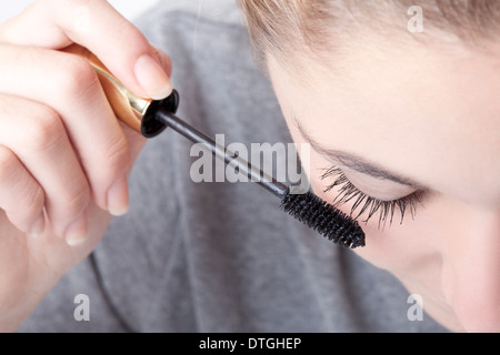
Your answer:
[[[270,57],[271,81],[294,141],[311,144],[314,192],[332,202],[359,190],[347,213],[366,195],[352,211],[366,207],[357,253],[451,331],[500,332],[500,45],[302,63]]]

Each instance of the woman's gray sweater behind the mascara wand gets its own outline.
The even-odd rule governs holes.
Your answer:
[[[246,30],[162,8],[138,24],[173,61],[179,115],[226,142],[290,142]],[[172,131],[136,165],[131,209],[21,332],[441,332],[391,274],[333,245],[253,183],[194,183]],[[88,296],[89,321],[74,316]],[[78,301],[76,303],[76,301]],[[78,311],[78,310],[77,310]]]

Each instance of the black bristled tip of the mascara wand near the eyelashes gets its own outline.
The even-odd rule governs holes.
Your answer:
[[[364,246],[364,232],[358,222],[312,192],[288,193],[281,209],[337,244],[351,248]]]

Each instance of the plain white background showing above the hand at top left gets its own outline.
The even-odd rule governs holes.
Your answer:
[[[33,0],[0,0],[0,23],[26,9]],[[108,0],[126,18],[133,19],[154,6],[158,0]]]

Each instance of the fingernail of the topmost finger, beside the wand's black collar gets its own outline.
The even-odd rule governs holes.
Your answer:
[[[141,55],[133,68],[136,79],[153,100],[162,100],[172,93],[170,79],[151,55]]]

